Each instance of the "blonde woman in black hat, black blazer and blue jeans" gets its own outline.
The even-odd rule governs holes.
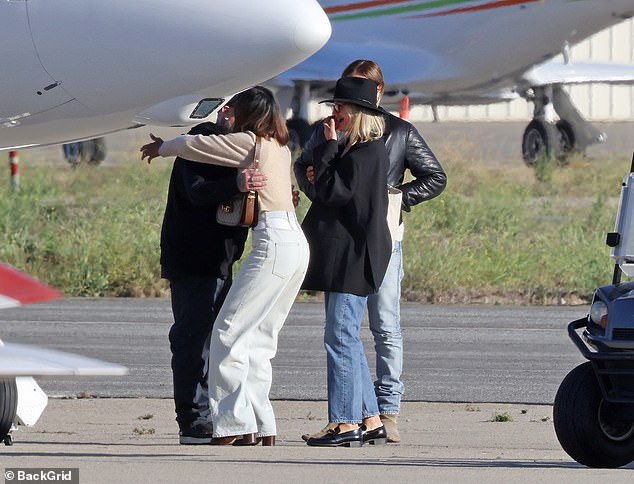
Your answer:
[[[328,416],[333,424],[311,446],[385,443],[374,385],[359,338],[367,296],[387,269],[392,241],[386,221],[388,157],[377,84],[359,77],[337,81],[325,142],[313,151],[316,198],[302,229],[310,246],[303,289],[325,291],[324,345]],[[337,131],[346,135],[339,146]]]

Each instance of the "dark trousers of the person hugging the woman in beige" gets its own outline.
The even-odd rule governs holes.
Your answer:
[[[188,276],[170,280],[174,324],[169,341],[176,421],[181,428],[209,420],[209,341],[230,287],[231,278]]]

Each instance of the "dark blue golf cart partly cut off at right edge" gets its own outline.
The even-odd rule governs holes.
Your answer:
[[[607,237],[615,262],[612,284],[598,288],[589,314],[568,325],[587,362],[559,386],[553,405],[557,439],[588,467],[634,461],[634,156],[624,178],[615,232]]]

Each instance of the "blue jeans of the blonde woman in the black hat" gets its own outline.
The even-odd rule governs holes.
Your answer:
[[[359,337],[366,301],[366,296],[325,293],[328,420],[333,423],[361,423],[379,414]]]

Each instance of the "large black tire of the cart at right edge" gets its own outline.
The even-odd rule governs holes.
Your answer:
[[[634,421],[617,420],[603,398],[589,361],[573,369],[557,390],[553,423],[566,453],[588,467],[613,469],[634,460]]]

